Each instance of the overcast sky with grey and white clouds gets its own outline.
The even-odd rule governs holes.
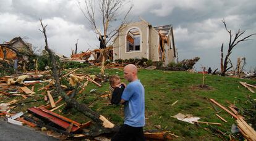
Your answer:
[[[96,0],[95,0],[96,1]],[[239,28],[244,35],[256,33],[255,0],[137,0],[129,19],[144,18],[153,26],[173,25],[174,39],[179,60],[200,57],[200,66],[220,70],[220,48],[227,47],[229,34],[221,20],[224,18],[229,30]],[[33,46],[44,47],[39,18],[47,24],[49,47],[59,54],[70,56],[71,49],[79,39],[79,51],[98,46],[98,39],[90,29],[79,9],[79,0],[0,0],[0,42],[20,36]],[[125,4],[126,10],[130,4]],[[118,20],[118,19],[117,19]],[[247,70],[256,67],[256,36],[241,42],[231,54],[236,65],[237,57],[246,58]]]

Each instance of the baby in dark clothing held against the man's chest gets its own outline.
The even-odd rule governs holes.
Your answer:
[[[121,83],[121,79],[118,75],[110,76],[109,84],[109,89],[112,92],[111,103],[117,105],[121,101],[122,92],[124,91],[126,84]]]

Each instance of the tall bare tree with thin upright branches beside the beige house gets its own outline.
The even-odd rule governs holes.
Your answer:
[[[96,33],[96,38],[100,41],[101,54],[101,74],[105,73],[105,60],[108,53],[107,46],[113,44],[113,38],[127,25],[127,15],[132,9],[129,7],[117,28],[114,28],[114,22],[119,21],[122,15],[122,9],[126,0],[85,0],[85,7],[80,7],[84,17],[88,20],[91,28]]]

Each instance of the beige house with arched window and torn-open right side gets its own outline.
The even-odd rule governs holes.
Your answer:
[[[129,23],[114,41],[114,60],[147,58],[153,62],[163,62],[166,66],[174,62],[173,26],[153,27],[145,20]]]

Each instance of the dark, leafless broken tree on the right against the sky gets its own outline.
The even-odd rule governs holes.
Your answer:
[[[228,31],[229,33],[229,43],[228,43],[228,51],[227,54],[223,60],[223,43],[221,45],[221,76],[225,76],[226,71],[228,71],[230,68],[233,67],[233,64],[231,62],[231,60],[229,59],[229,55],[231,55],[232,50],[234,49],[234,47],[242,41],[247,41],[249,40],[250,36],[255,35],[254,34],[250,34],[249,36],[245,36],[244,38],[241,38],[241,35],[245,33],[245,31],[241,31],[240,29],[234,34],[232,34],[231,30],[228,30],[226,23],[224,21],[224,19],[222,20],[226,31]],[[230,64],[230,66],[228,66]]]

